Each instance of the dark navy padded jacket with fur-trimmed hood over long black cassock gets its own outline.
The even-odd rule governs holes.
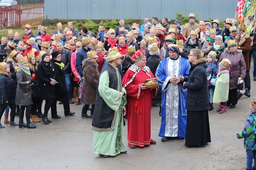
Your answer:
[[[187,88],[186,109],[189,111],[205,111],[209,108],[209,92],[207,87],[206,58],[199,59],[185,77],[184,87]]]

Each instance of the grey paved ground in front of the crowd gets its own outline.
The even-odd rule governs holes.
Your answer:
[[[251,69],[251,98],[256,97],[255,85]],[[125,126],[124,143],[128,152],[111,158],[100,158],[93,153],[91,119],[81,118],[81,105],[71,104],[71,111],[76,114],[65,117],[62,105],[57,104],[61,119],[53,119],[48,125],[34,123],[37,129],[10,127],[3,123],[2,117],[5,128],[0,129],[0,169],[242,170],[246,167],[246,152],[243,139],[237,139],[236,134],[243,130],[251,98],[239,100],[236,108],[228,108],[225,114],[216,113],[215,104],[209,112],[212,142],[200,148],[187,148],[185,140],[180,139],[161,142],[159,108],[152,107],[151,136],[157,141],[156,145],[128,148]],[[15,122],[18,123],[18,117]]]

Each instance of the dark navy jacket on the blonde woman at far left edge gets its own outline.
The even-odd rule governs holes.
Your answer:
[[[15,95],[13,92],[13,81],[8,73],[0,70],[0,104],[15,103]]]

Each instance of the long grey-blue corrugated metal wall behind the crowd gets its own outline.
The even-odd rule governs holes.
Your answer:
[[[44,0],[44,19],[143,19],[167,17],[176,12],[198,14],[198,20],[234,18],[237,0]]]

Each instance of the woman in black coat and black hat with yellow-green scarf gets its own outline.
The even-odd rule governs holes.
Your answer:
[[[60,52],[54,51],[52,53],[52,62],[55,67],[56,71],[56,81],[58,82],[55,85],[56,88],[56,98],[53,100],[53,104],[51,107],[51,113],[53,119],[60,119],[60,116],[57,115],[57,101],[62,99],[63,107],[64,107],[64,114],[65,116],[73,116],[75,113],[70,112],[69,107],[69,96],[68,96],[68,89],[66,86],[66,78],[65,78],[65,65],[61,62],[61,55]]]

